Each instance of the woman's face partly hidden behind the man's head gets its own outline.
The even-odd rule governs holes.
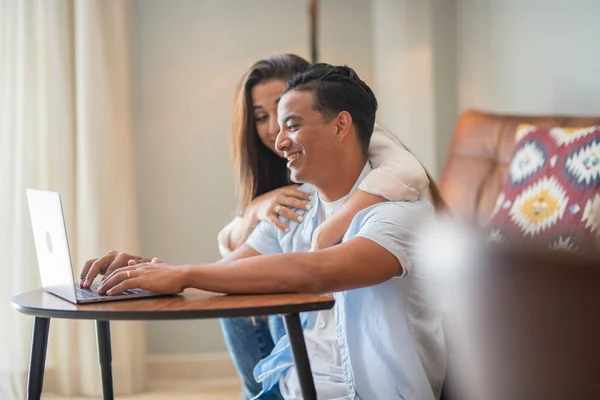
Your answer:
[[[279,155],[281,154],[275,150],[275,139],[279,133],[277,104],[279,104],[284,87],[285,81],[272,79],[252,88],[252,112],[258,136],[265,146]]]

